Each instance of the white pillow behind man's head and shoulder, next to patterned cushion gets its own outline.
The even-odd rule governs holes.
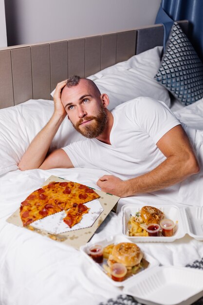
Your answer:
[[[109,95],[109,110],[138,96],[161,100],[170,107],[168,91],[154,79],[161,63],[162,50],[163,47],[155,47],[87,78],[95,82],[101,93]]]

